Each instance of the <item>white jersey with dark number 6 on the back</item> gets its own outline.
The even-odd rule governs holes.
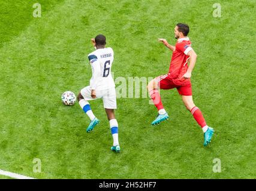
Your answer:
[[[112,48],[99,48],[88,54],[92,67],[90,86],[92,90],[106,90],[115,87],[111,75],[111,67],[114,60]]]

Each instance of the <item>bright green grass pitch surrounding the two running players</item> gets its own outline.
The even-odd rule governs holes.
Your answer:
[[[42,1],[0,3],[0,169],[35,178],[255,178],[255,2]],[[161,91],[170,120],[150,123],[156,109],[147,98],[119,98],[121,153],[101,100],[91,101],[100,125],[61,94],[89,84],[90,39],[107,36],[118,76],[155,77],[168,72],[173,28],[185,22],[198,55],[192,73],[194,101],[215,128],[209,147],[176,90]],[[41,159],[34,173],[33,159]],[[212,171],[221,159],[221,173]]]

